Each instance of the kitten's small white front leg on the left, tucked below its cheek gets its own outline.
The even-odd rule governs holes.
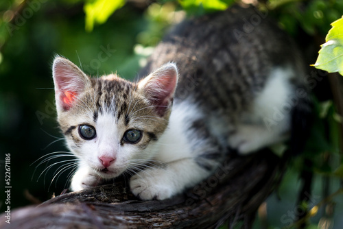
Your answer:
[[[71,190],[80,191],[82,189],[90,189],[102,182],[102,178],[95,174],[94,170],[88,166],[78,168],[73,178],[71,179]]]

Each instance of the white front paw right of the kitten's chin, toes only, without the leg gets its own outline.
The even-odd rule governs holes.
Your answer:
[[[176,194],[172,182],[163,179],[161,171],[137,173],[130,179],[130,189],[141,200],[165,200]]]

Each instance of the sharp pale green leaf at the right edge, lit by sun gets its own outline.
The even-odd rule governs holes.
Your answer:
[[[321,45],[319,56],[314,64],[317,69],[343,75],[343,17],[331,23],[326,43]]]

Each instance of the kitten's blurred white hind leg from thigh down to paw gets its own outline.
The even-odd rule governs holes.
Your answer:
[[[235,131],[228,136],[230,147],[239,154],[255,152],[263,147],[285,141],[291,129],[291,110],[294,106],[294,71],[276,68],[269,80],[251,104],[251,108],[240,114]]]

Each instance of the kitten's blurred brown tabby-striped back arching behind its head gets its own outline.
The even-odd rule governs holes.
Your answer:
[[[175,62],[180,73],[176,99],[191,96],[211,110],[241,112],[275,67],[289,65],[302,75],[299,56],[292,40],[268,17],[237,6],[174,27],[141,75]]]

